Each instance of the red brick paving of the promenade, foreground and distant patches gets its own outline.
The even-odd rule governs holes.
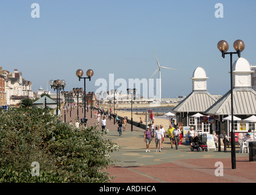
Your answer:
[[[83,117],[81,109],[79,109],[80,118]],[[96,119],[92,112],[86,112],[88,124],[93,125]],[[64,118],[64,116],[62,116]],[[72,119],[75,122],[77,118],[77,110],[72,110],[72,117],[69,113],[66,114],[66,121]],[[108,129],[116,130],[116,125],[107,120]],[[127,126],[127,130],[130,125]],[[139,130],[134,127],[134,130]],[[215,163],[220,161],[224,165],[224,176],[215,176]],[[172,183],[221,183],[221,182],[241,182],[249,183],[256,182],[256,162],[249,161],[248,157],[236,158],[236,169],[232,169],[230,158],[197,158],[197,159],[182,159],[173,162],[160,163],[158,165],[145,166],[113,166],[108,169],[111,176],[115,179],[111,182],[115,183],[157,183],[157,182],[172,182]]]

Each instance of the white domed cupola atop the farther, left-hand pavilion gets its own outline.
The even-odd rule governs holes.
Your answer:
[[[193,91],[207,91],[207,82],[206,80],[208,77],[206,77],[205,70],[201,67],[197,67],[194,70],[193,76],[192,76],[192,83],[193,83]]]

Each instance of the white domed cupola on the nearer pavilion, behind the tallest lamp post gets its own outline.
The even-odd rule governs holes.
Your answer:
[[[232,66],[233,71],[233,87],[252,87],[252,69],[250,63],[243,57],[239,57]]]

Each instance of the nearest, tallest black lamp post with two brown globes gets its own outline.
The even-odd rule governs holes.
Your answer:
[[[238,57],[241,57],[241,52],[244,50],[245,45],[242,40],[236,40],[233,43],[233,48],[236,52],[227,52],[228,43],[227,41],[221,40],[217,44],[217,48],[222,53],[222,57],[225,58],[225,55],[230,54],[230,91],[231,91],[231,160],[232,160],[232,169],[236,169],[236,149],[235,149],[235,131],[234,131],[234,120],[233,120],[233,71],[232,71],[232,55],[238,54]]]

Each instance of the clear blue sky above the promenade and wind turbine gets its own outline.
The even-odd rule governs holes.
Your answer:
[[[38,14],[34,3],[39,18],[31,16]],[[256,65],[255,9],[255,0],[1,0],[0,66],[21,71],[36,92],[51,90],[51,79],[66,80],[66,91],[83,87],[77,69],[94,71],[86,91],[99,90],[100,80],[111,90],[110,74],[127,83],[149,79],[157,69],[155,52],[160,65],[176,69],[161,69],[162,98],[192,92],[198,66],[209,77],[208,92],[224,95],[230,57],[222,58],[217,43],[226,40],[231,52],[233,42],[243,40],[241,57]]]

